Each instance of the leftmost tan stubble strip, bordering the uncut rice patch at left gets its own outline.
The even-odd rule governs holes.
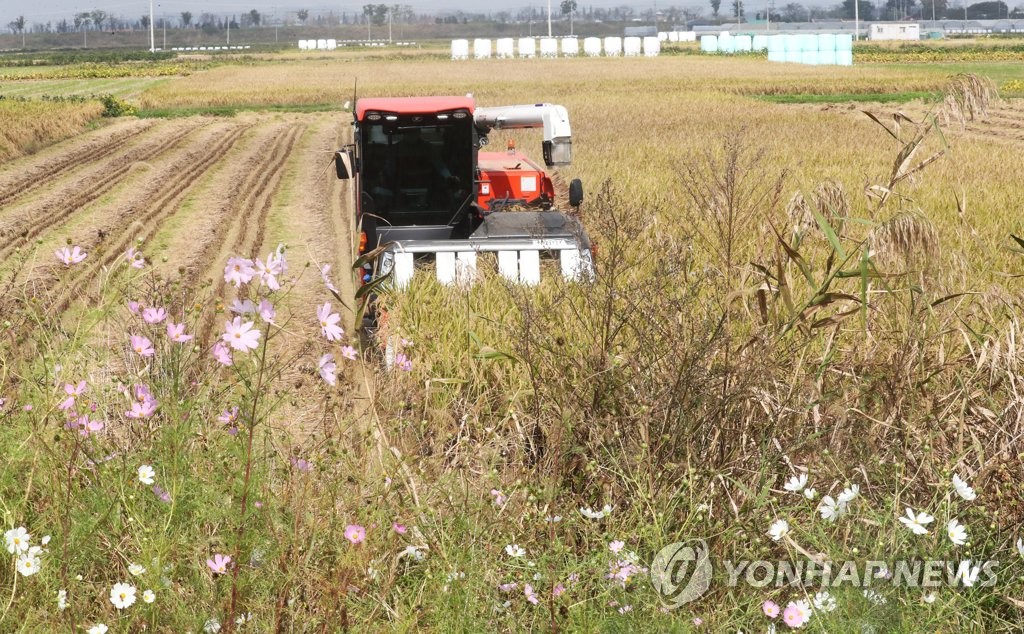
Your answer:
[[[51,157],[49,156],[51,153],[47,153],[47,156],[42,158],[38,155],[32,157],[27,165],[18,165],[6,176],[0,176],[0,208],[52,183],[56,178],[82,169],[104,156],[113,154],[153,127],[154,122],[152,121],[133,121],[112,130],[103,130],[102,132],[106,132],[106,134],[97,132],[86,138],[74,138],[61,143],[61,146],[74,143],[80,143],[80,145],[67,152],[61,150],[56,156]],[[24,164],[26,161],[19,163]]]

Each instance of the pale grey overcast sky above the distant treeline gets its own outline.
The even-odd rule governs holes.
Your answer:
[[[467,0],[382,0],[387,4],[398,3],[408,4],[418,13],[433,13],[444,10],[462,9],[469,12],[480,11],[515,11],[520,7],[532,4],[538,7],[547,7],[547,0],[492,0],[490,2],[470,2]],[[551,0],[552,10],[558,12],[560,0]],[[791,0],[775,0],[775,6],[784,5]],[[807,6],[831,6],[840,0],[797,0]],[[251,9],[257,9],[262,13],[272,14],[278,11],[282,17],[289,10],[309,9],[311,13],[327,13],[334,10],[336,13],[342,11],[361,13],[362,5],[374,0],[349,0],[348,2],[330,2],[325,0],[154,0],[154,11],[159,17],[162,14],[177,15],[181,11],[191,11],[194,14],[204,11],[213,13],[244,13]],[[579,6],[594,7],[614,7],[629,5],[640,11],[655,6],[678,6],[678,7],[708,7],[707,0],[640,0],[638,2],[628,2],[624,0],[577,0]],[[728,0],[722,3],[723,12]],[[759,0],[748,2],[751,7],[763,4]],[[60,18],[71,17],[76,12],[101,9],[108,13],[121,17],[137,17],[143,13],[148,13],[150,3],[147,0],[128,1],[125,0],[0,0],[0,25],[5,26],[18,15],[25,15],[26,20],[32,23],[57,22]],[[710,11],[709,11],[710,12]],[[0,27],[2,28],[2,27]]]

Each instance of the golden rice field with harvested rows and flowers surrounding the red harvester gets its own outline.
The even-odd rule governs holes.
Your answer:
[[[5,77],[0,630],[1019,631],[1013,81],[697,55]],[[565,105],[595,279],[418,276],[360,338],[331,168],[356,90]],[[143,116],[36,99],[94,93]],[[658,553],[698,542],[684,596],[703,568]],[[857,579],[761,583],[782,562]]]

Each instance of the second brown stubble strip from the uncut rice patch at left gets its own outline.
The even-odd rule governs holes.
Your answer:
[[[159,139],[154,145],[133,147],[115,158],[102,169],[94,170],[83,180],[55,189],[52,196],[48,196],[39,204],[27,206],[17,217],[0,224],[0,237],[10,238],[0,247],[0,258],[6,257],[16,247],[29,243],[43,231],[63,223],[74,213],[100,199],[130,177],[136,164],[160,159],[195,132],[195,128],[181,128]]]

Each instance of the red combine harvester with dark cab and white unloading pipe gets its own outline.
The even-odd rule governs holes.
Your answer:
[[[550,103],[476,108],[472,97],[364,98],[354,142],[336,155],[339,178],[355,186],[356,257],[361,283],[404,288],[417,262],[432,260],[442,284],[471,284],[477,258],[494,257],[506,279],[541,279],[542,256],[569,280],[590,278],[590,240],[580,221],[554,208],[544,168],[510,141],[481,152],[496,129],[543,128],[544,162],[568,165],[572,139],[565,109]],[[569,204],[583,185],[569,185]],[[493,255],[492,255],[493,254]]]

